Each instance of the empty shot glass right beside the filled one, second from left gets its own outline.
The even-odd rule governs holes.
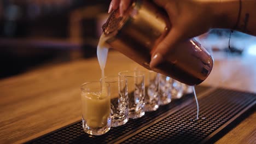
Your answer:
[[[124,76],[107,76],[105,82],[110,88],[111,126],[118,127],[129,120],[127,79]]]

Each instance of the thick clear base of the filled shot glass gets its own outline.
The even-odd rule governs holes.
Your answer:
[[[86,121],[82,119],[83,122],[83,129],[84,132],[89,134],[89,135],[103,135],[106,134],[111,127],[111,120],[107,122],[106,125],[103,127],[89,127],[89,125],[86,124]]]

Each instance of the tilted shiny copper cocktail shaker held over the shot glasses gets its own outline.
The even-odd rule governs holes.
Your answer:
[[[103,25],[103,32],[109,35],[106,42],[113,49],[150,69],[152,49],[170,28],[165,11],[152,2],[137,0],[123,17],[113,11]],[[187,85],[198,85],[207,78],[212,67],[211,55],[195,39],[190,39],[172,48],[165,62],[152,70]]]

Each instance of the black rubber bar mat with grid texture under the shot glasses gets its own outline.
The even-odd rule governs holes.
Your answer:
[[[194,95],[188,94],[101,136],[84,133],[79,121],[27,143],[209,143],[255,111],[253,93],[202,86],[197,86],[196,92],[199,97],[205,95],[199,98],[198,121],[193,121]]]

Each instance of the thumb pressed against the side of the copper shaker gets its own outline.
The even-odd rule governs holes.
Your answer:
[[[150,61],[150,68],[157,67],[160,63],[165,61],[168,53],[172,51],[173,47],[181,41],[182,35],[181,31],[176,28],[171,29],[171,31],[166,35],[166,37],[156,46]]]

